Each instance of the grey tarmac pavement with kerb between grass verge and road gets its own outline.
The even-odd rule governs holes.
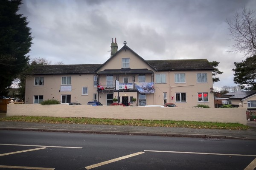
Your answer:
[[[0,122],[0,130],[27,130],[67,133],[99,133],[145,136],[179,136],[199,138],[256,140],[256,122],[247,121],[247,130],[193,129],[182,127],[144,127],[87,124],[53,124],[32,122]]]

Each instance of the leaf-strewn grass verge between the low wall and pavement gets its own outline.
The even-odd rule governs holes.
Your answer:
[[[0,117],[0,121],[35,122],[35,123],[65,123],[65,124],[93,124],[93,125],[121,125],[148,127],[188,127],[196,129],[229,129],[246,130],[249,127],[239,123],[219,122],[189,122],[172,120],[142,120],[142,119],[98,119],[85,117],[48,117],[48,116],[10,116]]]

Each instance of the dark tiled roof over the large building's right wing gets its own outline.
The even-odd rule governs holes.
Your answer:
[[[207,59],[147,60],[157,71],[213,70]]]

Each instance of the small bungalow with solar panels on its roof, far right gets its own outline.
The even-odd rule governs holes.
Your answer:
[[[230,92],[215,98],[215,103],[239,105],[241,103],[248,110],[256,109],[256,91]]]

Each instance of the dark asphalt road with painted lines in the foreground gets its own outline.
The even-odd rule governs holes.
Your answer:
[[[255,170],[256,142],[0,130],[0,170]]]

